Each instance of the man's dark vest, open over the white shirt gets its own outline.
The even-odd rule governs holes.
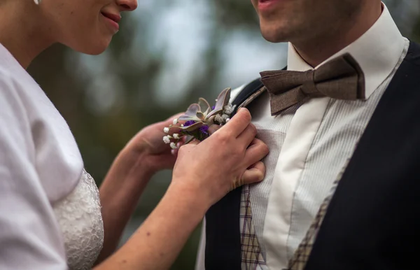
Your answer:
[[[234,103],[260,87],[254,80]],[[238,188],[206,215],[207,270],[241,269],[240,197]],[[420,269],[418,251],[420,46],[411,43],[340,180],[306,269]]]

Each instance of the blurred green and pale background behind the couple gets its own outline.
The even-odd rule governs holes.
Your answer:
[[[385,3],[402,33],[420,41],[420,1]],[[287,45],[260,36],[250,1],[139,0],[120,29],[102,55],[55,45],[29,67],[69,123],[98,185],[142,127],[286,65]],[[158,204],[170,178],[163,171],[151,180],[122,241]],[[193,269],[199,238],[197,228],[172,269]]]

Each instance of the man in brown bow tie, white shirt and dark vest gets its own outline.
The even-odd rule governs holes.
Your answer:
[[[233,93],[267,174],[209,210],[197,269],[418,269],[419,45],[380,0],[251,1],[289,42]]]

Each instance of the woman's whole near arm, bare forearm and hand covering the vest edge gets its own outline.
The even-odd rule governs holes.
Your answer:
[[[200,144],[179,150],[172,183],[132,238],[95,269],[169,269],[207,209],[230,190],[262,180],[267,145],[241,110]]]

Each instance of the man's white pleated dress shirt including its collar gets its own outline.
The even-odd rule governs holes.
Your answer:
[[[272,116],[265,93],[248,106],[258,137],[270,149],[264,160],[265,180],[250,186],[253,225],[267,263],[262,268],[287,267],[408,47],[409,41],[384,6],[379,20],[363,36],[330,57],[349,52],[360,64],[365,73],[365,101],[307,99]],[[289,44],[288,70],[309,69],[312,67]],[[204,269],[204,245],[203,236],[197,269]]]

